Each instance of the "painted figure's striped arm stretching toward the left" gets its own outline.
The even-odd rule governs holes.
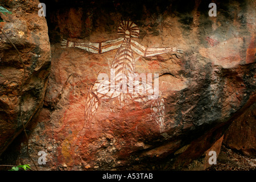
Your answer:
[[[123,38],[109,40],[101,43],[91,43],[91,42],[72,42],[69,40],[63,39],[61,42],[61,46],[65,47],[77,47],[80,49],[84,49],[85,51],[92,53],[104,53],[107,51],[111,51],[113,49],[117,49],[121,46],[123,42]]]

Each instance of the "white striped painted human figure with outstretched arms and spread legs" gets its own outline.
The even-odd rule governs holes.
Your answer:
[[[76,47],[92,53],[104,53],[112,51],[113,49],[118,49],[111,66],[111,74],[114,76],[110,78],[110,80],[97,80],[93,82],[88,90],[85,103],[85,123],[88,125],[92,122],[93,116],[100,104],[100,100],[109,100],[111,98],[119,97],[121,106],[127,99],[135,102],[151,102],[151,115],[156,123],[158,123],[160,132],[163,132],[164,100],[161,96],[162,94],[159,92],[158,88],[153,91],[152,84],[136,79],[134,81],[134,77],[131,78],[131,76],[136,75],[134,53],[139,56],[148,57],[167,52],[182,53],[183,51],[176,48],[147,48],[142,46],[137,41],[131,39],[139,37],[139,28],[129,20],[122,21],[119,24],[117,34],[122,35],[122,38],[102,43],[79,43],[67,40],[61,42],[63,48]],[[128,81],[129,79],[133,79],[133,82]],[[158,84],[158,82],[155,82],[154,84]],[[143,86],[145,92],[136,90],[139,88],[138,85]],[[132,90],[132,92],[130,92],[130,90]],[[157,98],[152,98],[154,92],[157,92],[157,94],[154,94]]]

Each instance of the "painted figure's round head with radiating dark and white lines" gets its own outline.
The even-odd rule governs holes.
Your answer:
[[[118,26],[117,34],[123,35],[127,39],[139,38],[139,27],[129,20],[122,21]]]

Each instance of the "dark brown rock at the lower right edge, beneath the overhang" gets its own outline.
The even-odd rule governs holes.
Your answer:
[[[249,109],[232,122],[224,138],[226,146],[251,156],[256,156],[255,106],[256,104],[251,105]]]

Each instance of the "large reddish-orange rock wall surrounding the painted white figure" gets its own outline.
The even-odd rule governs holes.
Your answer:
[[[193,169],[193,161],[209,150],[218,153],[230,123],[255,99],[255,3],[218,2],[216,17],[208,15],[209,3],[46,1],[51,74],[29,143],[35,160],[39,151],[46,152],[46,165],[39,168],[187,169],[191,164]],[[133,53],[136,73],[159,74],[163,130],[152,114],[160,107],[131,100],[129,94],[122,104],[119,97],[100,100],[85,125],[89,86],[100,73],[110,77],[117,49],[92,53],[90,48],[61,48],[60,42],[105,42],[90,44],[97,52],[99,45],[120,38],[123,19],[137,24],[140,34],[133,40],[143,47],[183,50]],[[25,148],[19,157],[31,163]]]

